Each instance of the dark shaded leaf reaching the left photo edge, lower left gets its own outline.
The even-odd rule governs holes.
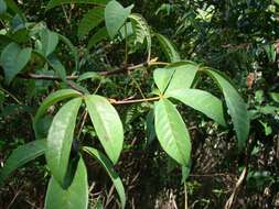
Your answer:
[[[14,150],[9,158],[4,162],[3,168],[0,170],[0,185],[3,184],[6,178],[17,168],[25,163],[43,155],[46,148],[45,140],[36,140],[22,145]]]

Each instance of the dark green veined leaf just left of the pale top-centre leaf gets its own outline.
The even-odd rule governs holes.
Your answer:
[[[83,18],[82,22],[78,24],[77,35],[83,37],[87,35],[93,29],[99,25],[105,19],[104,8],[94,8],[89,10]]]

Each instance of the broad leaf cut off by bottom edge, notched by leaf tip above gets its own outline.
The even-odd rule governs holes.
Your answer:
[[[88,183],[87,170],[83,158],[79,158],[72,185],[63,189],[54,177],[51,178],[46,191],[45,209],[87,209]]]

